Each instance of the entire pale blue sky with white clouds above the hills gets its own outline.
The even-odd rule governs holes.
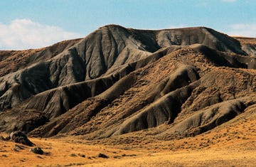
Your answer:
[[[1,0],[0,50],[42,48],[107,24],[164,29],[206,26],[256,37],[256,0]]]

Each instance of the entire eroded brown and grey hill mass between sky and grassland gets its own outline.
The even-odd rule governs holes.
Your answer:
[[[196,136],[256,109],[255,41],[205,27],[109,25],[47,48],[1,51],[0,131]]]

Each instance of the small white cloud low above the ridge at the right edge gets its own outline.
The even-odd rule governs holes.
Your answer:
[[[240,23],[230,26],[230,36],[256,37],[256,23]]]

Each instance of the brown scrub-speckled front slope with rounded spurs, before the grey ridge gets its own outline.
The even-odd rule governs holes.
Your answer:
[[[131,72],[107,91],[86,99],[31,134],[68,133],[100,139],[169,124],[173,131],[159,131],[165,138],[170,133],[194,136],[228,122],[255,103],[255,70],[210,65],[215,59],[207,59],[200,51],[204,48],[198,47],[177,50]],[[33,99],[28,101],[29,107],[34,104]],[[176,126],[178,122],[180,126]]]

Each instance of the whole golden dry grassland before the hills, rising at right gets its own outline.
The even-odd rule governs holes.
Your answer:
[[[114,145],[112,139],[107,139],[107,144],[93,144],[78,136],[31,138],[46,155],[31,153],[28,146],[14,151],[15,143],[0,141],[0,166],[255,166],[255,125],[256,114],[252,111],[250,117],[237,117],[195,137],[144,139],[141,145]],[[100,158],[99,153],[109,158]]]

